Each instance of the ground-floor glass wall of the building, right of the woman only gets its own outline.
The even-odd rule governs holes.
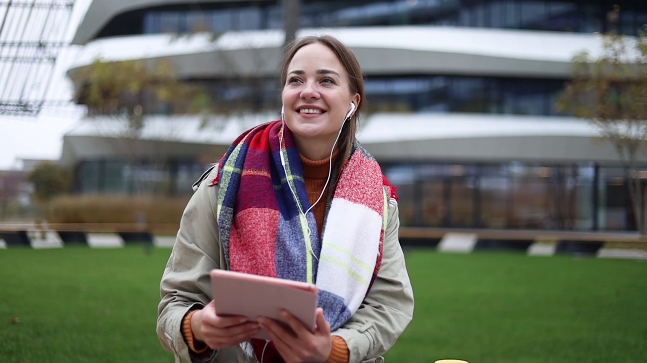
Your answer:
[[[405,198],[400,196],[399,205],[407,211],[406,225],[635,229],[620,168],[521,162],[480,166],[421,163],[393,165],[386,172],[393,177],[393,185],[399,185],[400,180],[404,186]]]

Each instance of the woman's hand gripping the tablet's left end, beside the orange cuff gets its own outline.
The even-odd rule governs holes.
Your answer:
[[[247,322],[245,316],[218,316],[214,300],[191,316],[193,337],[211,349],[237,346],[249,340],[259,329],[257,322]]]

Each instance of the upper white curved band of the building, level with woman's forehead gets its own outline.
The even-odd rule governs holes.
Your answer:
[[[453,74],[567,78],[572,57],[600,52],[593,34],[527,30],[379,26],[303,29],[298,36],[331,34],[353,49],[369,75]],[[69,74],[100,57],[104,61],[171,59],[183,78],[275,76],[281,30],[173,36],[148,34],[98,39],[85,46]]]

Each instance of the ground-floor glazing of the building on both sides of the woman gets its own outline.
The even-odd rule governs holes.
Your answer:
[[[383,165],[399,187],[400,223],[418,227],[635,230],[622,169],[595,165]],[[93,193],[190,194],[206,170],[196,161],[164,165],[83,161],[76,190]],[[597,184],[596,184],[597,183]],[[643,183],[647,193],[647,182]]]

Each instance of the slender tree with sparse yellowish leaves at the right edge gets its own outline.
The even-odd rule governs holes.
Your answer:
[[[647,233],[639,154],[647,141],[647,36],[602,35],[602,54],[573,57],[571,81],[557,108],[586,118],[617,151],[636,224]]]

